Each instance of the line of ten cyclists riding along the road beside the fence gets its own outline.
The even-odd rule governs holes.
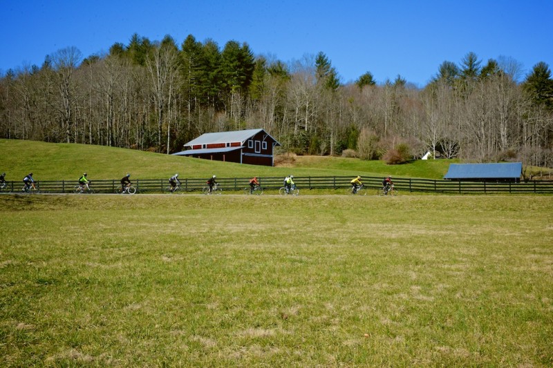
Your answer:
[[[131,174],[126,174],[120,180],[122,193],[125,193],[126,190],[128,190],[128,188],[131,186],[131,180],[129,179],[129,177],[131,177]],[[28,191],[35,183],[35,180],[32,178],[32,173],[29,173],[28,175],[26,175],[23,179],[23,182],[24,182],[23,191]],[[91,182],[90,180],[88,180],[86,173],[83,173],[83,175],[79,177],[78,182],[79,182],[79,193],[90,191],[89,185]],[[169,184],[171,184],[171,188],[169,189],[169,191],[171,193],[174,193],[174,191],[176,191],[177,189],[177,186],[180,186],[181,184],[180,180],[178,180],[178,173],[176,173],[175,175],[169,178]],[[295,188],[294,175],[286,176],[284,178],[283,184],[284,184],[286,193],[290,193],[290,190],[292,190],[292,188]],[[353,178],[350,184],[351,184],[351,193],[353,194],[357,193],[357,191],[359,191],[359,189],[362,188],[363,186],[363,183],[361,182],[361,176],[359,175]],[[5,185],[6,185],[6,173],[2,173],[0,175],[0,186],[5,186]],[[214,186],[217,185],[216,175],[213,175],[207,180],[207,185],[209,186],[209,193],[212,193]],[[259,186],[260,184],[257,177],[252,177],[252,179],[250,179],[250,193],[253,193],[256,190],[256,188],[259,188]],[[387,177],[384,177],[384,180],[382,180],[383,193],[385,195],[388,194],[388,192],[392,187],[393,187],[392,177],[389,175]]]

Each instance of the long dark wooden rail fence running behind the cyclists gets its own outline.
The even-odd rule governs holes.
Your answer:
[[[294,182],[299,189],[340,189],[350,186],[351,177],[343,176],[308,176],[294,177]],[[282,177],[258,177],[258,180],[266,190],[279,189],[283,186]],[[363,177],[365,187],[375,191],[382,187],[382,177]],[[205,179],[187,178],[181,180],[182,191],[201,191],[207,185]],[[217,182],[225,191],[241,191],[247,187],[250,178],[222,177]],[[457,193],[457,194],[493,194],[493,193],[539,193],[553,194],[553,180],[532,180],[528,182],[457,182],[449,180],[411,179],[397,177],[393,179],[395,188],[402,192],[427,192],[427,193]],[[21,192],[21,182],[6,182],[6,188],[2,193]],[[35,185],[41,193],[73,193],[77,185],[75,180],[39,181]],[[95,193],[115,193],[120,188],[119,180],[93,180],[91,188]],[[167,179],[140,179],[133,181],[137,193],[162,193],[169,186]]]

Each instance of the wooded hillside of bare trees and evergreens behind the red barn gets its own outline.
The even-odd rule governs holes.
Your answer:
[[[344,84],[324,52],[285,63],[237,41],[133,35],[106,55],[70,47],[8,70],[0,136],[171,153],[201,133],[264,128],[295,153],[397,163],[431,151],[553,166],[550,67],[521,73],[507,57],[468,52],[422,88],[400,75],[377,84],[370,71]]]

